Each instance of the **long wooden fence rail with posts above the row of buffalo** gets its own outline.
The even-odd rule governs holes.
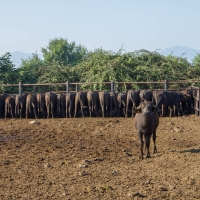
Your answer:
[[[66,93],[69,93],[70,90],[70,86],[75,86],[75,91],[78,91],[78,85],[94,85],[94,84],[104,84],[104,85],[110,85],[110,91],[111,92],[115,92],[115,86],[116,85],[120,85],[120,84],[124,84],[124,85],[130,85],[130,84],[163,84],[163,89],[165,91],[168,91],[169,89],[169,85],[170,84],[187,84],[187,83],[200,83],[200,80],[179,80],[179,81],[168,81],[168,80],[164,80],[164,81],[159,81],[159,82],[155,82],[155,81],[150,81],[150,82],[75,82],[75,83],[71,83],[71,82],[65,82],[65,83],[35,83],[35,84],[22,84],[21,82],[19,82],[19,84],[0,84],[0,87],[19,87],[19,94],[22,93],[22,87],[24,86],[33,86],[34,87],[34,93],[37,92],[36,87],[38,86],[65,86],[66,87]],[[181,88],[183,89],[183,88]]]

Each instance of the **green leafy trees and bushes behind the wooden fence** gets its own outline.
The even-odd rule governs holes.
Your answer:
[[[61,82],[160,82],[189,80],[200,77],[200,54],[189,63],[186,58],[163,56],[157,51],[141,49],[134,52],[88,51],[83,45],[54,38],[41,48],[43,60],[37,54],[22,59],[18,69],[10,61],[10,53],[0,57],[0,84],[6,83],[61,83]],[[116,85],[118,91],[140,87],[138,84]],[[110,86],[109,86],[110,87]],[[81,85],[80,89],[107,90],[106,84]],[[142,85],[155,88],[154,84]],[[31,88],[29,88],[31,90]],[[48,90],[64,89],[62,86]],[[13,89],[11,89],[13,91]],[[43,89],[47,91],[47,88]],[[1,87],[0,92],[5,88]],[[12,92],[11,91],[11,92]],[[42,89],[40,88],[40,91]]]

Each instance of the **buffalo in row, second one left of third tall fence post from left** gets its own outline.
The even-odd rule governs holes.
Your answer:
[[[88,91],[87,92],[87,101],[88,101],[88,108],[90,117],[92,117],[92,114],[95,110],[96,116],[98,116],[98,110],[99,110],[99,93],[95,91]]]

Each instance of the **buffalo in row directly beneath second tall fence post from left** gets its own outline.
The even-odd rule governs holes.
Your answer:
[[[75,97],[76,93],[70,92],[66,94],[66,117],[72,117],[73,116],[73,110],[75,107]]]

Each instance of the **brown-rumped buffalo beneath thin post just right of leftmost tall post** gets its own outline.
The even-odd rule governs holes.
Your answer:
[[[34,113],[35,118],[38,118],[37,96],[36,94],[28,94],[26,97],[26,119],[32,117]]]

